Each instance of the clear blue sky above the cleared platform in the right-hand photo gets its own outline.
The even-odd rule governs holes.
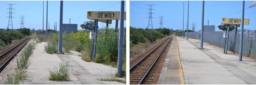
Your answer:
[[[153,28],[159,28],[159,18],[163,17],[163,27],[182,29],[183,27],[183,2],[184,3],[184,30],[187,24],[188,1],[130,1],[130,26],[145,28],[148,24],[149,6],[152,8]],[[256,7],[249,8],[253,1],[245,1],[244,18],[250,19],[249,25],[244,25],[244,29],[256,29]],[[239,12],[240,11],[240,12]],[[204,25],[221,25],[222,18],[242,18],[242,1],[205,1],[204,2]],[[188,28],[192,30],[195,22],[195,30],[199,30],[202,19],[202,1],[189,1],[189,21]]]

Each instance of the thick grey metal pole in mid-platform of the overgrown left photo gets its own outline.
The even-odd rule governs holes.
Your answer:
[[[57,54],[62,53],[62,19],[63,19],[63,1],[60,1],[60,18],[59,18],[59,49]],[[56,29],[57,30],[57,29]]]

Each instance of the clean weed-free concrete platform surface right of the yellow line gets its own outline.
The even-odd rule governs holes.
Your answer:
[[[177,37],[177,43],[185,84],[256,84],[256,59],[238,61],[238,54],[207,43],[198,49],[195,39]]]

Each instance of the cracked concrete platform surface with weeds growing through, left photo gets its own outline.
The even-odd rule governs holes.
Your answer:
[[[29,77],[23,84],[124,84],[122,82],[99,81],[101,78],[113,78],[117,68],[85,62],[78,55],[79,52],[72,51],[72,54],[47,54],[44,51],[46,42],[38,43],[33,54],[29,58],[30,66],[26,70]],[[71,69],[69,81],[48,80],[49,70],[59,68],[59,63],[69,61]],[[5,74],[6,75],[6,74]]]

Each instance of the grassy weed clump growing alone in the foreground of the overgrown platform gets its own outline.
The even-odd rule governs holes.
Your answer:
[[[68,62],[66,63],[59,63],[59,69],[57,67],[53,68],[53,71],[49,71],[50,76],[48,77],[49,80],[53,81],[65,81],[69,80],[70,77],[70,69],[68,68]]]

